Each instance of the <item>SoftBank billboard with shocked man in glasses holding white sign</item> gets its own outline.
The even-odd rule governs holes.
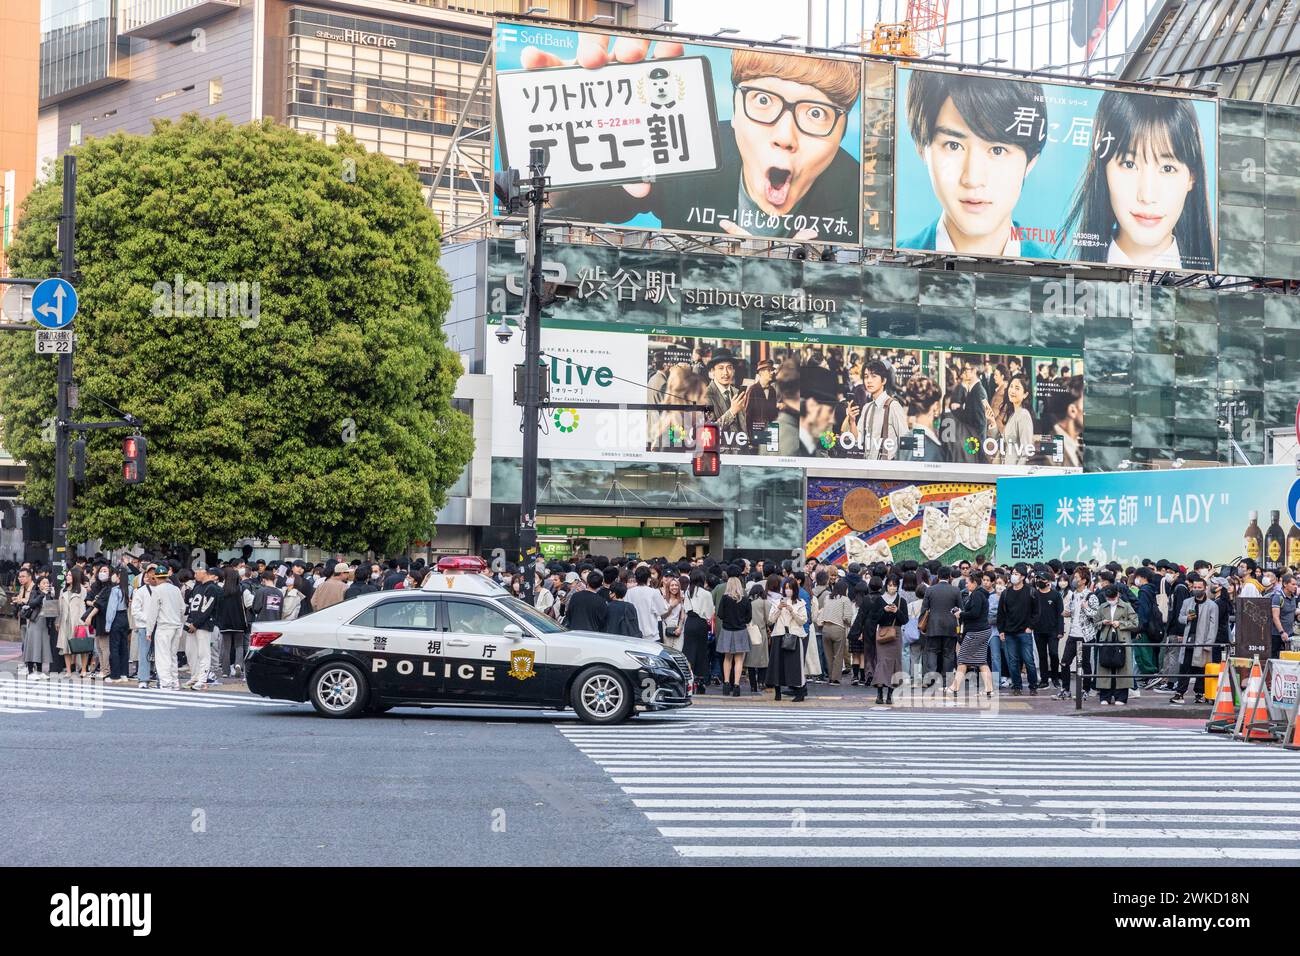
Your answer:
[[[858,242],[857,60],[512,22],[493,51],[495,169],[541,148],[552,221]]]

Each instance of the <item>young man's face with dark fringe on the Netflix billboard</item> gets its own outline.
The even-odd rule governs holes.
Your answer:
[[[997,255],[1006,246],[1011,212],[1034,163],[1022,147],[976,137],[944,100],[935,137],[922,150],[935,196],[944,208],[944,225],[958,252]]]

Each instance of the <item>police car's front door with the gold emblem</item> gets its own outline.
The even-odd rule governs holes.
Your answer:
[[[467,704],[536,704],[542,697],[537,666],[543,659],[542,643],[519,630],[490,601],[443,596],[446,666],[442,696]]]

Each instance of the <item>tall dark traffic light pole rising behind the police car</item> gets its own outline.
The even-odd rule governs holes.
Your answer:
[[[546,202],[546,166],[541,150],[529,157],[532,187],[528,194],[528,284],[524,290],[524,460],[519,501],[519,561],[524,601],[533,604],[533,563],[537,559],[537,431],[541,412],[542,360],[542,230]]]

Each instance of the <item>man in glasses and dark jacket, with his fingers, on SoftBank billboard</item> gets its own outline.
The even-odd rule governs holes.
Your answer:
[[[610,44],[606,36],[584,35],[577,62],[588,69],[638,62],[649,49],[650,40],[619,36]],[[681,53],[680,43],[659,42],[654,59]],[[525,69],[563,62],[534,48],[520,61]],[[649,212],[664,229],[854,243],[859,163],[841,142],[861,82],[859,65],[848,60],[734,49],[732,118],[718,122],[718,169],[653,183],[555,190],[550,215],[619,224]],[[725,83],[715,87],[724,99]],[[826,228],[828,220],[836,220],[835,229]]]

